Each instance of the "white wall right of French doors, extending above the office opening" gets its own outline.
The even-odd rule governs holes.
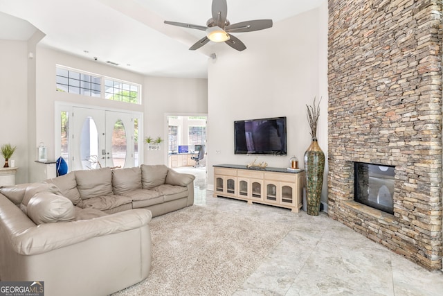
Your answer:
[[[166,116],[206,115],[208,113],[208,80],[199,78],[145,78],[144,136],[161,136],[161,150],[146,150],[145,164],[168,165],[168,124]],[[144,138],[144,137],[143,137]]]

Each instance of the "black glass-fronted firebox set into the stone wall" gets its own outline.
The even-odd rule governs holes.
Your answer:
[[[394,214],[394,166],[354,162],[354,201]]]

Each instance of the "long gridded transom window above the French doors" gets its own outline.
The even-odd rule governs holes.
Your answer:
[[[56,90],[140,104],[141,85],[57,65]]]

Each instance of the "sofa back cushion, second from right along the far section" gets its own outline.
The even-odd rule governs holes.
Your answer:
[[[112,170],[112,187],[115,195],[123,195],[141,189],[141,168],[120,168]]]

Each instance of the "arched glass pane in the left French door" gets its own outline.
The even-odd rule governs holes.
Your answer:
[[[80,134],[80,159],[82,168],[100,168],[98,154],[97,125],[91,117],[87,117],[82,125]]]

